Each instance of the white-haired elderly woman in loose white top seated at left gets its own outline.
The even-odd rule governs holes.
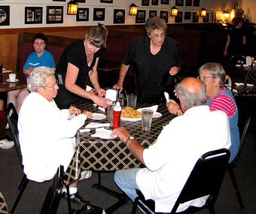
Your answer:
[[[75,134],[91,113],[76,107],[59,110],[53,101],[59,86],[52,68],[35,68],[27,81],[31,93],[23,101],[18,121],[24,173],[28,179],[44,182],[53,178],[60,164],[65,170],[69,166]],[[75,202],[86,203],[77,193],[77,183],[71,194]]]

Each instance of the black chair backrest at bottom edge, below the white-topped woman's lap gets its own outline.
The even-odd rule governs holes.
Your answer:
[[[47,192],[47,195],[44,199],[44,204],[41,208],[41,214],[53,214],[56,213],[59,200],[62,194],[62,185],[63,185],[63,166],[60,165],[55,176],[53,176],[52,185]]]

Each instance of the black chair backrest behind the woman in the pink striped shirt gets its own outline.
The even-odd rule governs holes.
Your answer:
[[[247,130],[250,122],[251,122],[251,116],[248,116],[247,119],[245,119],[245,122],[242,122],[242,120],[239,120],[238,126],[239,126],[239,132],[240,132],[240,144],[239,144],[238,152],[236,154],[236,158],[234,158],[233,161],[230,162],[230,167],[236,166],[236,163],[239,159],[239,156],[242,150],[243,143],[245,141],[245,136],[247,134]]]

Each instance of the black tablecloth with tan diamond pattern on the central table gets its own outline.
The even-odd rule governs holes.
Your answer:
[[[139,107],[149,107],[151,105],[140,105]],[[79,102],[76,107],[81,110],[90,110],[93,113],[102,113],[93,106],[92,103]],[[143,146],[148,147],[157,139],[163,126],[167,125],[174,115],[170,114],[165,104],[160,104],[157,112],[162,113],[160,118],[152,120],[151,131],[142,131],[142,122],[127,122],[121,120],[121,125],[125,126],[130,134]],[[89,122],[107,122],[106,119],[101,121],[93,121],[87,119],[84,126]],[[83,127],[82,127],[83,128]],[[84,132],[77,133],[77,148],[75,155],[69,164],[64,180],[67,185],[77,180],[81,171],[111,171],[127,168],[142,167],[139,161],[131,154],[125,143],[119,138],[104,140],[96,137],[90,137],[92,133]]]

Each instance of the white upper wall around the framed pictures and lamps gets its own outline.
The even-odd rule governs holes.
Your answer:
[[[245,2],[255,2],[255,0],[243,0]],[[113,0],[113,4],[100,3],[100,0],[86,0],[86,3],[79,3],[79,8],[90,8],[89,10],[89,21],[88,22],[77,22],[76,16],[71,16],[66,14],[67,5],[69,0],[66,2],[53,2],[52,0],[0,0],[0,6],[10,5],[10,26],[0,26],[0,29],[10,29],[10,28],[35,28],[35,27],[55,27],[55,26],[92,26],[99,21],[93,21],[93,8],[105,8],[105,21],[100,21],[106,25],[113,24],[113,11],[114,9],[124,9],[126,11],[125,24],[135,24],[135,17],[128,15],[128,9],[131,3],[135,3],[139,6],[139,10],[146,10],[146,19],[150,10],[157,11],[157,15],[160,11],[169,11],[173,5],[175,5],[175,0],[170,0],[169,5],[161,5],[159,0],[159,5],[154,6],[142,6],[142,0]],[[185,2],[185,0],[184,0]],[[181,7],[179,6],[179,11],[200,11],[201,8],[206,8],[209,12],[213,11],[223,11],[225,8],[233,8],[234,2],[240,2],[240,0],[200,0],[200,7]],[[255,4],[254,4],[255,5]],[[46,8],[47,6],[63,6],[63,23],[59,24],[46,24]],[[43,7],[43,22],[42,24],[25,24],[25,7]],[[255,7],[254,7],[255,8]],[[210,13],[211,14],[211,13]],[[183,13],[184,16],[184,13]],[[212,20],[210,17],[209,20]],[[169,17],[169,23],[174,23],[174,18]],[[183,20],[183,23],[191,23],[191,20]],[[125,25],[124,24],[124,25]]]

